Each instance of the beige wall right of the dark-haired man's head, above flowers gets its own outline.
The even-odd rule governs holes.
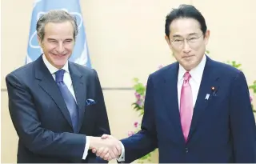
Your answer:
[[[235,60],[242,64],[247,82],[256,80],[256,1],[193,0],[205,15],[210,30],[208,50],[220,62]]]

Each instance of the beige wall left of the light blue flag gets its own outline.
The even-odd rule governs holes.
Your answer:
[[[33,2],[2,1],[1,88],[6,88],[6,74],[25,63]]]

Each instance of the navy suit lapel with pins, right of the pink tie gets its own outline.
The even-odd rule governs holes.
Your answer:
[[[202,81],[198,90],[198,97],[194,106],[193,118],[190,126],[190,134],[188,141],[190,140],[192,134],[196,130],[198,122],[202,115],[204,114],[209,102],[212,99],[213,91],[211,88],[214,86],[218,87],[218,74],[214,71],[213,61],[206,57],[206,66],[202,74]],[[210,94],[210,98],[206,99],[206,94]]]

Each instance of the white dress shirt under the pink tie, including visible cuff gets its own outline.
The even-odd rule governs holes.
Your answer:
[[[194,69],[190,70],[189,73],[191,75],[190,78],[190,86],[192,89],[192,96],[193,96],[193,106],[198,97],[198,91],[200,88],[200,84],[202,81],[202,74],[203,70],[206,66],[206,55],[203,55],[202,61],[196,66]],[[181,99],[181,92],[182,92],[182,84],[183,84],[183,76],[186,73],[186,70],[179,64],[178,69],[178,82],[177,82],[177,89],[178,89],[178,109],[180,109],[180,99]],[[118,159],[119,162],[125,161],[125,148],[122,145],[122,154]]]

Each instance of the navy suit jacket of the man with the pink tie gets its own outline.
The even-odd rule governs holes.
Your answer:
[[[255,163],[256,127],[244,74],[206,58],[187,142],[178,110],[177,79],[178,62],[150,74],[142,130],[122,140],[125,162],[158,148],[160,163]],[[218,89],[215,95],[212,86]]]

